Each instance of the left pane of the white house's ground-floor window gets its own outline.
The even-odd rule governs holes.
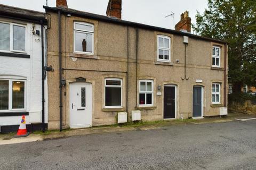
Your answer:
[[[9,109],[9,80],[0,80],[0,110]]]

